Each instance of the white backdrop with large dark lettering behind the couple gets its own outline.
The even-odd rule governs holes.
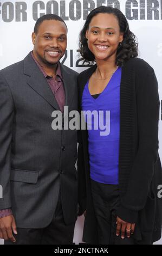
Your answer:
[[[118,7],[126,15],[131,31],[139,41],[139,57],[155,70],[162,99],[162,0],[66,0],[66,1],[1,1],[0,0],[0,70],[22,60],[33,49],[31,33],[40,15],[55,13],[68,26],[68,48],[65,65],[77,72],[78,36],[89,10],[100,5]],[[162,113],[159,117],[159,153],[162,159]],[[76,223],[74,242],[82,242],[83,217]],[[3,243],[0,240],[0,243]],[[162,239],[157,242],[162,244]]]

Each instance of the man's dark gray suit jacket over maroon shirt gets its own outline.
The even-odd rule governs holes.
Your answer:
[[[69,111],[77,110],[77,73],[61,64]],[[51,128],[60,110],[31,54],[0,71],[0,210],[17,227],[44,228],[61,190],[64,221],[77,218],[77,131]]]

